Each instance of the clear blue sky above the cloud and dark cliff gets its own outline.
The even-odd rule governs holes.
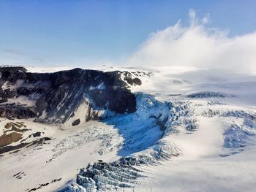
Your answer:
[[[121,62],[149,34],[189,9],[211,15],[208,26],[239,36],[256,29],[256,1],[1,0],[0,64],[81,66]]]

